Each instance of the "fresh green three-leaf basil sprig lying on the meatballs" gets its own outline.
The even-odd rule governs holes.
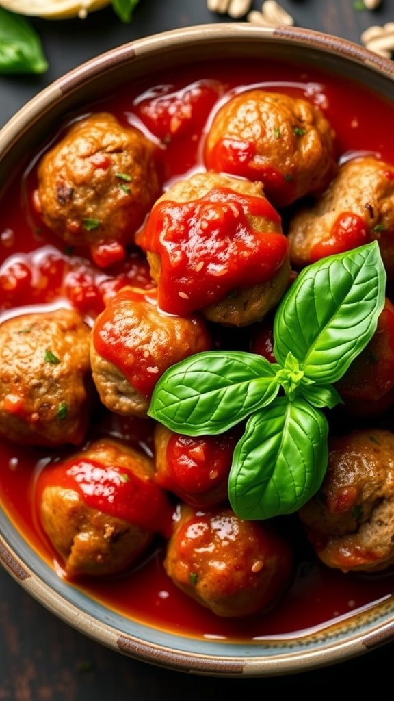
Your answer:
[[[243,351],[208,351],[158,380],[149,416],[177,433],[216,435],[245,421],[229,475],[243,519],[290,514],[319,489],[327,469],[325,407],[332,383],[376,329],[386,273],[374,241],[307,266],[276,311],[275,363]]]

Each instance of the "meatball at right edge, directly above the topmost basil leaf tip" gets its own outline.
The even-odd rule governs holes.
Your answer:
[[[292,264],[299,267],[376,238],[393,277],[394,166],[374,156],[342,163],[325,193],[292,217],[288,236]]]

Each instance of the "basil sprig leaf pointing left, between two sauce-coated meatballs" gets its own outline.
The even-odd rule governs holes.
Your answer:
[[[243,351],[191,355],[158,380],[148,414],[178,433],[223,433],[276,397],[276,369]]]

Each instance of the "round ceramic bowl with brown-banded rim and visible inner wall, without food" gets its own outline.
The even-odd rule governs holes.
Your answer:
[[[158,68],[202,58],[280,60],[327,69],[394,103],[394,64],[348,41],[299,28],[266,29],[243,23],[204,25],[133,41],[100,55],[55,81],[15,114],[0,132],[0,193],[20,164],[36,154],[67,114]],[[152,77],[154,81],[154,77]],[[351,99],[351,96],[349,96]],[[379,129],[378,125],[374,128]],[[16,177],[16,176],[15,176]],[[82,588],[66,583],[18,528],[6,498],[0,504],[0,560],[11,576],[55,615],[119,653],[153,665],[217,676],[272,676],[332,665],[393,639],[394,598],[356,607],[320,625],[254,641],[198,636],[125,617]]]

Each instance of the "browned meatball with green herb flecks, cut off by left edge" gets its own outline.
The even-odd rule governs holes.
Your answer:
[[[79,444],[93,402],[90,329],[70,309],[0,325],[0,433],[32,445]]]

